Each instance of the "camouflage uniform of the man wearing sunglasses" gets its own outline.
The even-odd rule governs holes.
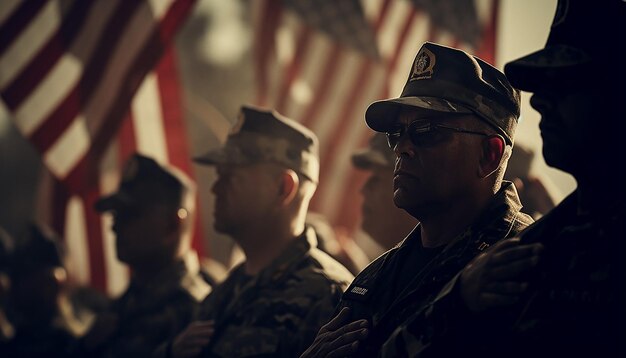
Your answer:
[[[446,282],[474,256],[495,242],[517,235],[532,219],[520,212],[512,183],[505,182],[481,216],[434,257],[422,264],[407,263],[412,252],[424,250],[420,227],[361,272],[342,297],[351,321],[367,319],[370,333],[356,356],[374,356],[408,315],[428,305]],[[411,277],[398,284],[398,277]]]

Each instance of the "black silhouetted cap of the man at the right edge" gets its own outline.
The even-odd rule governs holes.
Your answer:
[[[504,72],[522,90],[588,86],[624,66],[626,2],[559,0],[543,49],[509,62]],[[623,71],[623,69],[621,69]],[[622,72],[623,73],[623,72]]]

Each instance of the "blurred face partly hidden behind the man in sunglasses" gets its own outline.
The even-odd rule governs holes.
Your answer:
[[[362,228],[383,248],[389,249],[408,234],[416,221],[393,203],[393,168],[373,166],[361,189]]]

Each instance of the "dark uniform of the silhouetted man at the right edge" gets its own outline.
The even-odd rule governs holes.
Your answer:
[[[577,214],[574,192],[521,234],[545,251],[522,300],[474,316],[454,281],[387,341],[383,356],[612,357],[623,354],[624,205]],[[593,238],[593,245],[589,239]],[[436,329],[425,329],[436,327]],[[558,334],[554,334],[558,332]],[[623,356],[623,355],[621,355]]]

